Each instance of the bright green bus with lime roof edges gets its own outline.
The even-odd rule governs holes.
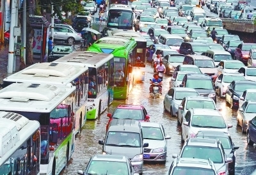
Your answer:
[[[92,52],[104,52],[114,55],[109,69],[111,72],[108,87],[113,88],[115,100],[125,100],[134,84],[132,63],[136,59],[136,42],[120,36],[106,36],[100,38],[88,48]],[[124,73],[121,77],[118,72]]]

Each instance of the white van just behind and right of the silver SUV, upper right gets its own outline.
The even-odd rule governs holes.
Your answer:
[[[202,56],[211,57],[215,65],[218,65],[221,60],[232,60],[230,53],[223,50],[210,49],[202,53]]]

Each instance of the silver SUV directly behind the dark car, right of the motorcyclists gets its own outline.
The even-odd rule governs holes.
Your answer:
[[[218,70],[214,65],[211,57],[207,56],[198,56],[198,55],[188,55],[184,57],[183,61],[184,65],[196,65],[200,68],[202,73],[205,73],[212,77],[212,79],[216,79],[218,75]]]

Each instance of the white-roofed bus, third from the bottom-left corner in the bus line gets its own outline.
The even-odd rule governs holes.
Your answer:
[[[76,87],[76,118],[75,133],[82,130],[86,122],[86,103],[88,92],[88,80],[85,75],[88,67],[85,65],[66,65],[56,63],[36,63],[20,72],[14,73],[3,80],[5,88],[13,82],[49,83],[52,85],[66,86],[72,83]]]

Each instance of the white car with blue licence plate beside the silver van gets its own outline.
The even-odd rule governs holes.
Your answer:
[[[167,141],[171,139],[170,135],[166,135],[164,127],[158,123],[141,123],[143,133],[143,141],[148,143],[148,147],[144,148],[143,160],[145,162],[166,162]]]

